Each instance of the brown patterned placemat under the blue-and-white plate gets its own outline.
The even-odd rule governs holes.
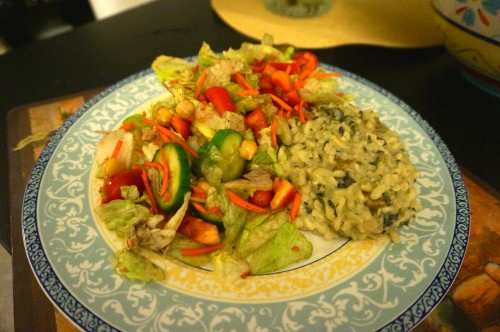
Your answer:
[[[40,288],[23,246],[21,202],[24,185],[46,140],[13,151],[16,143],[34,132],[52,131],[64,121],[63,113],[77,110],[101,89],[12,109],[8,114],[10,207],[16,331],[75,331]],[[467,254],[445,299],[416,331],[446,327],[461,330],[500,330],[500,196],[462,169],[471,209]],[[480,306],[480,307],[478,307]]]

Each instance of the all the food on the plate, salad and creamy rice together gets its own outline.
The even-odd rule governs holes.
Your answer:
[[[95,213],[123,239],[118,273],[163,279],[148,251],[224,280],[272,273],[311,257],[307,232],[397,239],[415,214],[404,144],[313,53],[265,36],[152,68],[165,93],[97,146]]]

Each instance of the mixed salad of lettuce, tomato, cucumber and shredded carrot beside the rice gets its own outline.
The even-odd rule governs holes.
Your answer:
[[[203,43],[194,62],[161,55],[152,69],[166,92],[97,146],[95,213],[123,239],[114,269],[162,280],[145,255],[153,251],[236,280],[309,258],[284,147],[293,144],[290,119],[304,125],[313,109],[346,103],[340,75],[270,36],[221,54]]]

